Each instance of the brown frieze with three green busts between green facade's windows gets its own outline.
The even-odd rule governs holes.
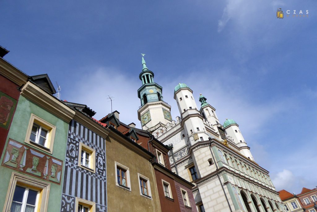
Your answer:
[[[63,161],[12,139],[2,161],[3,166],[57,184],[61,184],[62,164]]]

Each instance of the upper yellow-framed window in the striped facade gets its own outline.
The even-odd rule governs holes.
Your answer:
[[[91,172],[95,172],[95,150],[80,143],[79,152],[79,166]]]

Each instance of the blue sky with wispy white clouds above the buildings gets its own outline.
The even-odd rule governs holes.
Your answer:
[[[285,18],[275,17],[281,7]],[[277,190],[317,186],[316,1],[1,1],[5,59],[62,99],[136,123],[141,55],[164,100],[186,83],[240,125]],[[286,17],[290,10],[290,17]],[[292,17],[308,10],[308,17]]]

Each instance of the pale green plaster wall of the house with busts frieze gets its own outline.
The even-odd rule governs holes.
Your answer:
[[[29,126],[29,121],[31,114],[36,115],[37,117],[40,117],[41,119],[49,122],[51,125],[56,127],[56,132],[55,132],[55,139],[54,139],[54,146],[53,146],[53,153],[49,154],[48,152],[42,151],[39,148],[34,147],[33,145],[26,144],[24,142],[27,131],[28,131],[28,126]],[[0,184],[0,191],[3,191],[0,193],[0,208],[3,208],[5,204],[5,199],[7,195],[7,190],[8,187],[10,186],[10,178],[12,172],[16,172],[18,174],[25,175],[30,178],[35,178],[36,180],[40,181],[45,181],[46,183],[50,184],[50,192],[49,192],[49,202],[48,202],[48,209],[47,211],[57,211],[59,210],[59,205],[61,202],[61,194],[62,194],[62,181],[60,180],[59,183],[54,183],[52,181],[49,181],[49,175],[50,175],[50,169],[49,169],[49,174],[47,177],[43,176],[42,174],[42,179],[41,177],[35,176],[34,174],[27,173],[27,167],[24,167],[22,171],[16,170],[14,168],[5,166],[3,161],[5,158],[5,155],[8,154],[9,152],[6,151],[6,148],[8,147],[8,142],[9,140],[15,140],[16,143],[21,143],[24,148],[29,148],[32,149],[33,153],[36,151],[41,155],[45,155],[44,157],[41,158],[41,160],[52,160],[56,162],[62,162],[61,166],[61,172],[60,172],[60,179],[64,178],[64,161],[65,161],[65,152],[66,152],[66,143],[67,143],[67,133],[68,133],[68,124],[65,121],[57,118],[55,115],[52,115],[48,111],[42,109],[40,106],[34,104],[33,102],[29,101],[23,96],[20,96],[16,111],[15,111],[15,116],[13,117],[10,131],[6,140],[6,144],[4,147],[3,154],[1,155],[1,161],[0,161],[0,173],[1,173],[1,184]],[[10,146],[10,145],[9,145]],[[22,149],[23,149],[22,147]],[[7,152],[7,153],[6,153]],[[26,152],[26,151],[25,151]],[[26,154],[28,157],[28,154]],[[29,156],[30,157],[30,156]],[[47,159],[49,158],[49,159]],[[31,158],[27,158],[28,160],[32,160]],[[40,161],[41,162],[41,161]],[[52,162],[50,162],[51,164]],[[19,166],[19,164],[18,164]],[[49,167],[49,166],[47,166]],[[45,175],[45,174],[44,174]],[[46,178],[46,179],[44,179]],[[58,206],[58,207],[57,207]],[[57,209],[57,210],[56,210]]]

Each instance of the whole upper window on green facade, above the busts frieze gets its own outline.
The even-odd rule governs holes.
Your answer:
[[[51,125],[40,117],[31,114],[25,143],[52,154],[55,131],[55,126]]]

